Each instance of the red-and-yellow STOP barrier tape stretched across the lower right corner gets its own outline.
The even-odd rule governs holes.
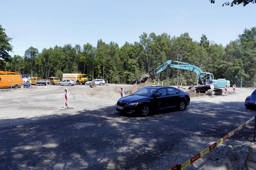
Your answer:
[[[248,120],[247,122],[245,122],[243,125],[238,126],[238,128],[234,129],[233,131],[231,131],[229,134],[225,135],[223,138],[221,138],[220,140],[218,140],[217,142],[213,143],[211,146],[207,147],[206,149],[202,150],[200,153],[198,153],[197,155],[195,155],[193,158],[189,159],[187,162],[183,163],[183,164],[179,164],[176,165],[174,167],[172,167],[170,170],[179,170],[179,169],[185,169],[186,167],[188,167],[189,165],[191,165],[192,163],[194,163],[195,161],[197,161],[199,158],[202,158],[205,154],[207,154],[209,151],[213,150],[216,146],[220,145],[222,142],[224,142],[226,139],[230,138],[233,136],[233,134],[235,134],[236,132],[238,132],[239,130],[241,130],[242,128],[244,128],[246,125],[248,125],[251,121],[255,120],[256,116],[253,116],[250,120]],[[180,167],[179,167],[180,166]]]

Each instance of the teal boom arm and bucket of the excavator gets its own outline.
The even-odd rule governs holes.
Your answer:
[[[171,64],[172,62],[175,62],[175,63],[178,63],[178,64]],[[185,63],[185,62],[168,60],[168,61],[164,62],[162,65],[160,65],[158,68],[156,68],[152,73],[142,74],[141,78],[140,78],[140,82],[144,82],[149,77],[153,77],[156,74],[159,74],[160,72],[165,70],[167,67],[190,70],[192,72],[195,72],[197,74],[197,76],[199,75],[199,73],[202,73],[202,70],[198,66],[191,65],[191,64],[188,64],[188,63]]]

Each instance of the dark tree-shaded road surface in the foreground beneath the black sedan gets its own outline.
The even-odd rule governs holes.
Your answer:
[[[37,121],[28,118],[26,124],[0,128],[0,169],[169,169],[256,114],[242,100],[230,98],[192,99],[183,112],[166,110],[144,118],[120,114],[113,105]],[[81,122],[93,125],[73,126]],[[189,169],[243,169],[252,126]]]

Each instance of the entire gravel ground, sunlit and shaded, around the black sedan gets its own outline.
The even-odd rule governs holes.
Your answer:
[[[245,88],[229,96],[191,98],[183,112],[120,114],[115,110],[120,87],[49,85],[1,92],[0,169],[169,169],[256,114],[244,107],[253,91]],[[59,110],[65,88],[75,109]],[[76,128],[83,122],[93,125]],[[187,169],[255,169],[253,126]]]

